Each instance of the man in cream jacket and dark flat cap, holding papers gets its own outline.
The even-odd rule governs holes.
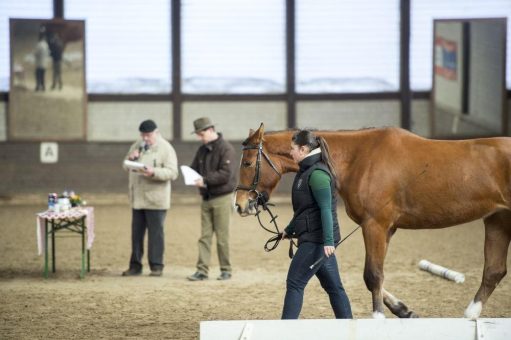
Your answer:
[[[140,139],[133,143],[125,160],[144,165],[129,171],[129,196],[132,207],[131,258],[123,276],[142,274],[145,231],[148,231],[148,260],[151,276],[163,271],[164,222],[170,208],[170,181],[178,176],[177,157],[172,145],[160,135],[150,119],[139,126]]]

